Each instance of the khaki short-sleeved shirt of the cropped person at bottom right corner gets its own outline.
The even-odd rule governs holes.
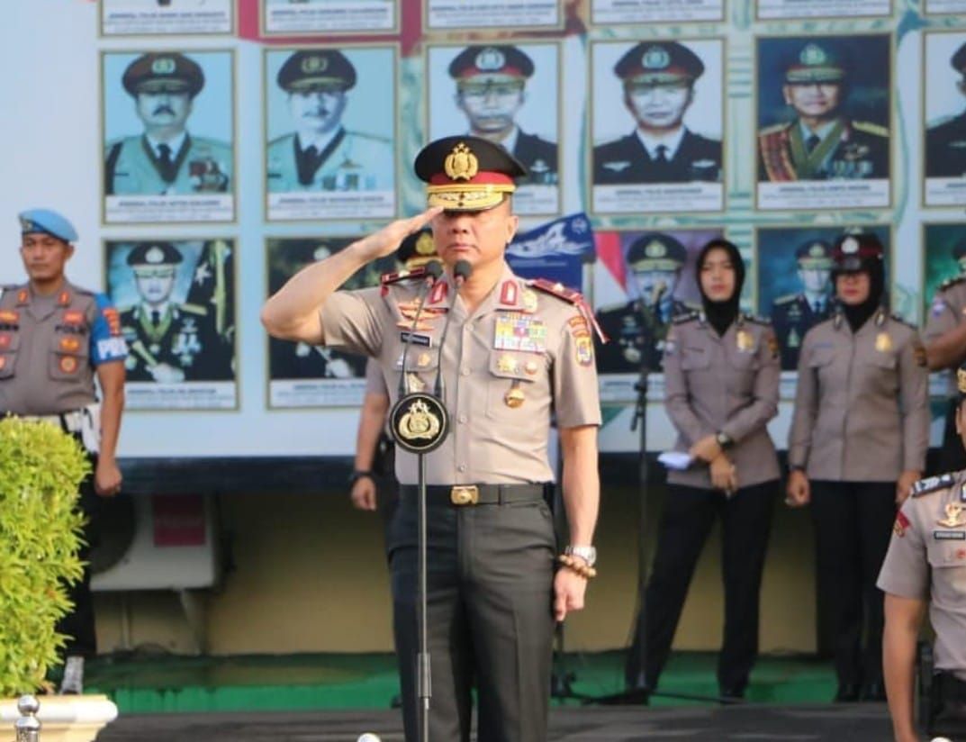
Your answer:
[[[876,585],[929,601],[935,668],[966,681],[966,471],[916,483],[895,517]]]

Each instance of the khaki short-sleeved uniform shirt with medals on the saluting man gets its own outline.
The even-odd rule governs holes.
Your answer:
[[[326,343],[375,357],[390,402],[400,395],[405,343],[418,280],[336,292],[321,316]],[[407,391],[432,391],[440,359],[450,432],[425,455],[427,484],[514,484],[554,478],[547,459],[551,414],[560,428],[599,425],[590,330],[569,301],[530,288],[504,266],[491,294],[470,315],[447,275],[434,287],[406,353]],[[428,344],[427,344],[428,343]],[[511,389],[524,394],[511,407]],[[417,483],[416,456],[399,451],[401,484]]]

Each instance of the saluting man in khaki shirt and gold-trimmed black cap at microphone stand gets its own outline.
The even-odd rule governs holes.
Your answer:
[[[506,244],[517,228],[510,194],[525,171],[505,150],[477,137],[445,137],[419,153],[415,171],[428,184],[430,209],[301,271],[262,318],[273,334],[377,358],[393,402],[403,389],[434,389],[440,372],[452,429],[424,455],[429,737],[469,739],[475,683],[479,739],[538,742],[547,738],[554,618],[582,608],[593,576],[601,418],[592,317],[580,295],[526,282],[507,266]],[[432,289],[410,273],[386,277],[382,289],[336,291],[427,222],[446,270]],[[472,267],[466,280],[454,277],[462,260]],[[409,352],[404,337],[414,340]],[[413,407],[398,426],[409,442],[440,425],[438,415]],[[551,414],[560,430],[571,539],[555,575],[546,501]],[[399,451],[401,498],[389,543],[408,740],[417,739],[416,469],[416,456]]]

